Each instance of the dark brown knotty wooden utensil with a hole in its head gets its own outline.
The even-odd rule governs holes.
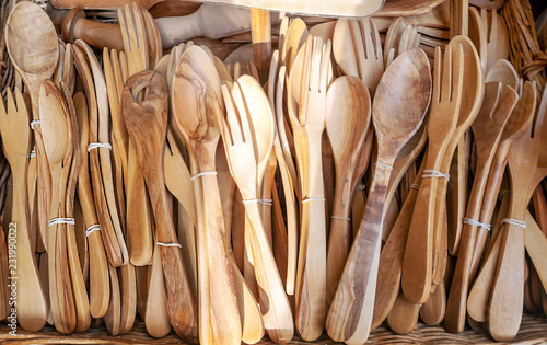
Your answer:
[[[147,88],[142,102],[137,100]],[[163,277],[167,297],[167,314],[176,333],[197,342],[197,310],[177,249],[175,229],[168,207],[163,154],[167,135],[167,84],[155,71],[143,71],[129,78],[123,93],[124,119],[135,143],[142,173],[147,181],[155,218],[156,238],[162,255]],[[152,159],[155,158],[155,159]]]

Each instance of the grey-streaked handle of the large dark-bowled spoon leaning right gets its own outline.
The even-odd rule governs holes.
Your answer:
[[[391,165],[393,161],[382,163]],[[327,333],[337,342],[364,343],[369,337],[380,260],[382,214],[389,182],[386,169],[376,165],[363,219],[328,311]]]

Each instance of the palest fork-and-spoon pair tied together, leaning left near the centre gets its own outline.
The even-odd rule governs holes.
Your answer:
[[[258,207],[260,165],[268,161],[274,146],[274,114],[266,94],[252,77],[240,77],[231,94],[225,85],[222,88],[228,125],[223,117],[219,116],[218,120],[221,124],[230,172],[242,193],[245,210],[252,222],[251,250],[260,304],[269,306],[268,310],[263,311],[265,329],[274,342],[289,342],[294,332],[292,313]],[[257,115],[259,113],[266,116]],[[260,127],[257,122],[265,124]],[[260,145],[258,137],[263,137],[268,145]],[[256,168],[253,171],[251,166]]]

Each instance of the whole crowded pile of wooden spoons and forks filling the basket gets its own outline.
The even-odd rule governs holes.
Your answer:
[[[0,320],[16,281],[31,332],[118,335],[138,313],[188,343],[363,344],[421,318],[512,340],[523,309],[547,314],[547,95],[507,60],[503,1],[469,2],[316,25],[252,11],[277,49],[266,25],[224,61],[136,3],[100,30],[72,10],[65,41],[18,3]],[[200,25],[253,22],[222,9]]]

